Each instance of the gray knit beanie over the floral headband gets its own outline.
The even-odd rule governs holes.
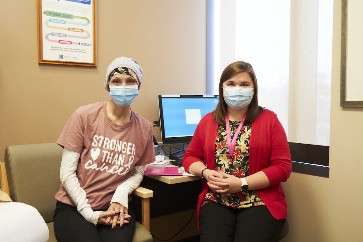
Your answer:
[[[116,69],[118,67],[127,67],[127,68],[130,68],[131,70],[133,70],[136,73],[136,76],[138,79],[137,81],[139,82],[138,89],[140,89],[143,71],[142,71],[141,67],[139,66],[139,63],[137,61],[135,61],[134,59],[122,56],[122,57],[119,57],[119,58],[116,58],[115,60],[113,60],[111,62],[111,64],[109,65],[109,67],[107,67],[106,77],[105,77],[106,90],[110,91],[109,77],[110,77],[111,71],[113,71],[114,69]]]

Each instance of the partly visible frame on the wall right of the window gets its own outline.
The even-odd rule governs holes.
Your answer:
[[[348,22],[351,28],[356,28],[356,25],[360,24],[360,21],[356,21],[356,18],[361,18],[356,13],[356,4],[361,4],[357,1],[360,0],[349,0],[353,5],[353,9],[348,15],[348,0],[342,0],[342,35],[341,35],[341,52],[340,52],[340,107],[363,107],[363,77],[360,76],[359,72],[361,67],[356,66],[362,63],[360,58],[356,57],[357,54],[362,53],[362,44],[355,35],[355,32],[350,29],[349,34],[349,45],[348,45]],[[359,8],[360,9],[360,8]],[[357,9],[358,10],[358,9]],[[360,10],[358,10],[360,11]],[[353,24],[353,25],[352,25]],[[359,26],[362,26],[360,24]],[[360,43],[360,44],[358,44]],[[348,47],[350,48],[348,50]],[[348,55],[349,53],[349,55]],[[357,60],[358,59],[358,60]],[[351,94],[353,93],[353,94]]]

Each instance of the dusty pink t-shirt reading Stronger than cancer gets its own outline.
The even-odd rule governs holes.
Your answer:
[[[80,153],[77,177],[92,209],[108,208],[118,185],[135,165],[155,161],[152,124],[131,110],[124,126],[111,121],[106,102],[82,106],[64,127],[57,144]],[[76,206],[63,185],[56,200]]]

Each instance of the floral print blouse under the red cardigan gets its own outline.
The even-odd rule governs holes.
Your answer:
[[[239,124],[239,121],[229,121],[229,126],[231,128],[231,139],[233,138],[233,135],[236,132]],[[229,154],[227,144],[226,126],[220,125],[218,127],[215,153],[216,171],[221,170],[227,174],[237,177],[246,177],[249,175],[248,144],[251,131],[251,123],[245,123],[242,127],[241,133],[237,136],[231,162],[231,156]],[[205,196],[201,206],[207,204],[208,202],[216,202],[218,204],[229,206],[235,209],[265,205],[261,198],[253,190],[250,190],[247,193],[232,193],[229,196],[224,196],[211,190]]]

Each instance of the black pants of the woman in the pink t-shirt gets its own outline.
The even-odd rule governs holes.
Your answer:
[[[56,210],[54,211],[54,233],[58,242],[71,242],[71,241],[87,241],[87,242],[101,242],[101,241],[132,241],[135,230],[135,213],[132,202],[129,202],[130,223],[125,223],[121,228],[116,226],[97,225],[85,220],[81,214],[78,213],[77,208],[57,201]],[[106,211],[103,209],[102,211]]]

